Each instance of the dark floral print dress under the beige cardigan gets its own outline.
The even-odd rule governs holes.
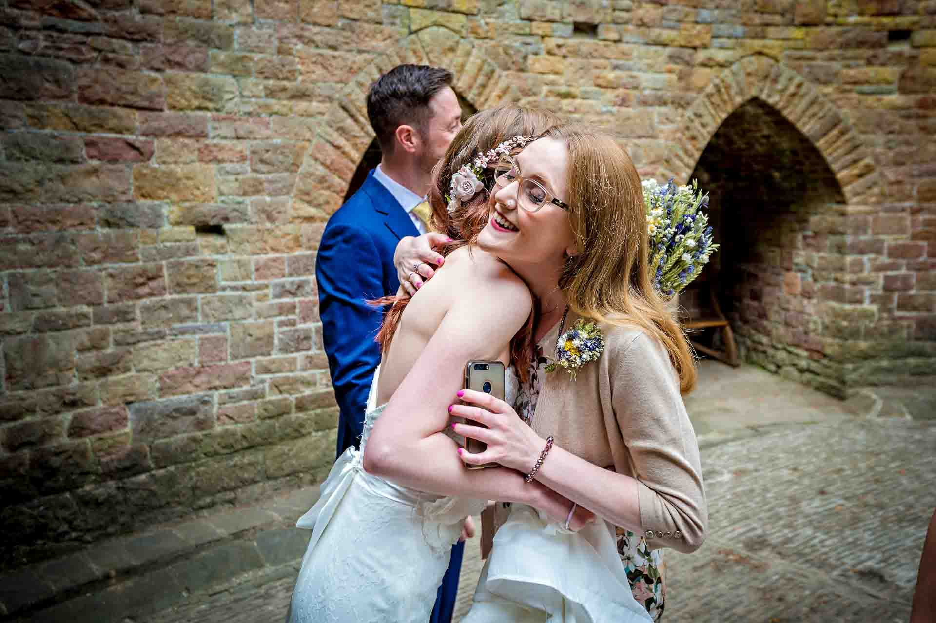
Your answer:
[[[546,364],[543,349],[537,346],[536,355],[530,362],[528,380],[526,383],[520,383],[520,390],[514,402],[514,411],[527,424],[533,423]],[[622,528],[617,529],[617,540],[618,554],[621,555],[634,599],[647,608],[654,621],[659,621],[663,616],[666,600],[663,550],[651,550],[646,539]]]

